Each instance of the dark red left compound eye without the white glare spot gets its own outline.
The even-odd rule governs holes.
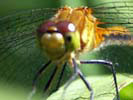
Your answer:
[[[47,32],[49,27],[55,26],[55,23],[53,21],[45,21],[43,24],[39,26],[37,29],[38,36],[41,37],[44,33]]]

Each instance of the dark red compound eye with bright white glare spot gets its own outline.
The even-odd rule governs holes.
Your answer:
[[[68,21],[60,21],[57,23],[58,31],[62,34],[65,34],[67,32],[74,32],[75,31],[75,25]]]

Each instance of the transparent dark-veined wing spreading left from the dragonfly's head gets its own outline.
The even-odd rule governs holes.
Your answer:
[[[0,54],[35,39],[38,25],[55,12],[50,9],[36,9],[0,18]],[[30,42],[29,42],[30,43]],[[3,56],[4,57],[4,56]],[[2,59],[2,58],[1,58]]]

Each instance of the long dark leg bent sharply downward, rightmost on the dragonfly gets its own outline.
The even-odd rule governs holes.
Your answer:
[[[117,100],[120,100],[120,96],[119,96],[119,92],[118,92],[118,85],[117,85],[117,78],[116,78],[116,71],[115,71],[115,68],[114,68],[114,65],[112,62],[106,61],[106,60],[81,60],[80,63],[81,64],[103,64],[103,65],[107,65],[108,68],[111,69],[111,71],[113,73]]]

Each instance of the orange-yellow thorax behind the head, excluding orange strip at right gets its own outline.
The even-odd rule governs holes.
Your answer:
[[[91,15],[92,10],[90,8],[61,8],[57,15],[54,17],[56,22],[62,20],[68,20],[72,22],[77,31],[80,33],[81,50],[92,49],[94,46],[94,28],[96,18]]]

